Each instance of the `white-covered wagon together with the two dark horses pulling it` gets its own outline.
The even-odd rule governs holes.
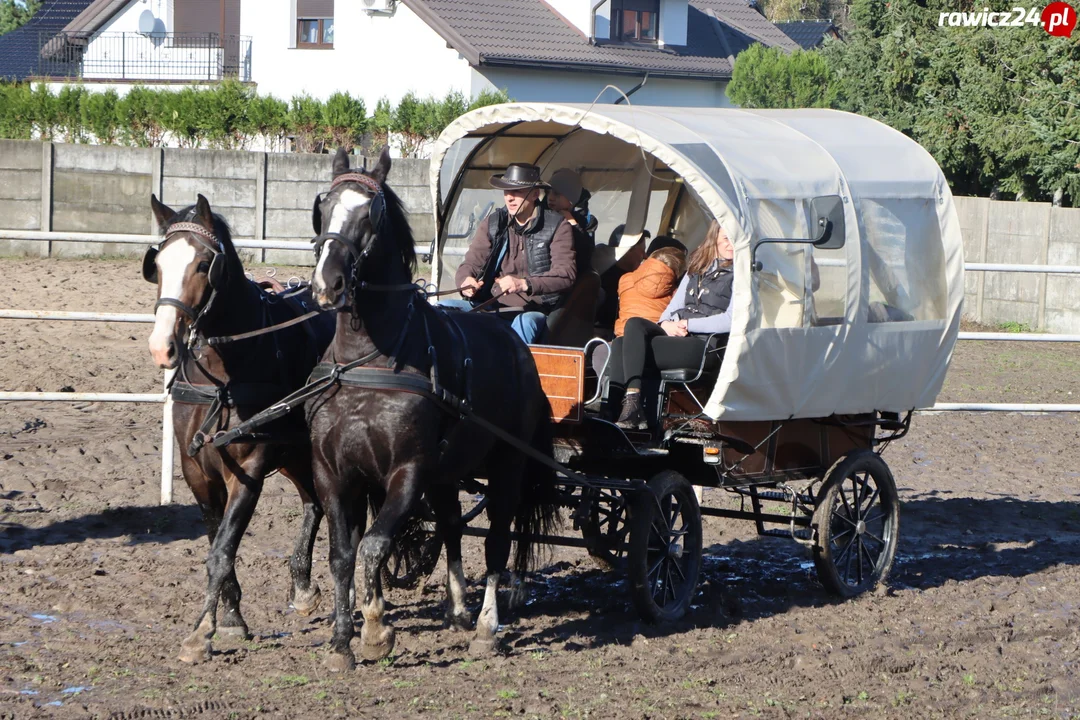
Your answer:
[[[184,473],[211,536],[206,599],[181,658],[210,657],[215,631],[247,633],[233,560],[274,468],[306,508],[289,562],[300,612],[319,604],[311,554],[323,513],[328,520],[334,669],[353,663],[354,600],[364,657],[392,651],[380,578],[415,582],[441,547],[446,620],[472,627],[461,535],[480,508],[462,515],[462,488],[487,505],[480,652],[495,647],[512,527],[518,571],[538,542],[625,559],[634,602],[653,621],[690,604],[702,515],[754,520],[809,546],[839,595],[888,573],[899,499],[880,452],[915,408],[932,405],[963,297],[960,230],[930,155],[885,125],[825,110],[483,108],[451,123],[432,155],[440,293],[455,290],[454,269],[499,201],[488,178],[522,161],[581,175],[597,236],[622,226],[616,257],[646,228],[693,248],[713,219],[733,245],[730,332],[700,361],[657,373],[647,431],[624,431],[592,403],[606,384],[591,362],[605,343],[594,338],[596,277],[579,280],[549,318],[549,345],[526,348],[508,323],[427,302],[386,151],[372,171],[335,157],[313,207],[318,263],[300,304],[244,280],[205,198],[179,212],[153,200],[164,239],[144,261],[159,294],[150,350],[178,369]],[[333,315],[308,323],[311,302]],[[696,486],[732,493],[742,508],[701,507]],[[403,539],[421,498],[435,533]],[[767,512],[766,500],[791,510]],[[551,535],[558,505],[581,538]]]

